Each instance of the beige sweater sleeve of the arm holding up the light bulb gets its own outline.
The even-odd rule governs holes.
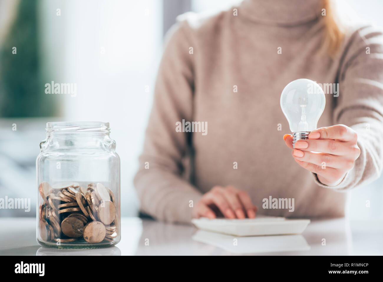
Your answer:
[[[339,72],[339,96],[334,124],[344,124],[358,134],[361,150],[354,168],[331,189],[347,191],[377,179],[383,166],[383,34],[371,26],[352,36]],[[322,187],[315,175],[315,181]]]

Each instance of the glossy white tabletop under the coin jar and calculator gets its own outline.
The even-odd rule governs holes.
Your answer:
[[[36,242],[34,218],[0,218],[0,255],[382,255],[383,221],[312,220],[302,235],[233,237],[139,218],[122,218],[116,246],[57,250]],[[237,239],[234,246],[233,239]],[[322,242],[326,240],[326,245]],[[201,243],[203,241],[205,243]],[[149,242],[146,246],[145,242]]]

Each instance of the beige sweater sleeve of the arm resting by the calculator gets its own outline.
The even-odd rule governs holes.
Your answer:
[[[191,120],[193,109],[193,54],[189,54],[193,45],[185,25],[177,24],[167,34],[144,149],[134,177],[141,210],[170,222],[190,222],[190,201],[195,204],[201,197],[182,177],[190,133],[176,132],[176,122]]]

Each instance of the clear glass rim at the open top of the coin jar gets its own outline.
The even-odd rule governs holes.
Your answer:
[[[46,133],[110,133],[109,123],[103,121],[49,121]]]

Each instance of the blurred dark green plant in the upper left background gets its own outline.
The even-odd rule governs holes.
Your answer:
[[[21,0],[0,47],[0,117],[54,116],[55,100],[41,77],[37,0]],[[16,54],[13,54],[16,47]]]

